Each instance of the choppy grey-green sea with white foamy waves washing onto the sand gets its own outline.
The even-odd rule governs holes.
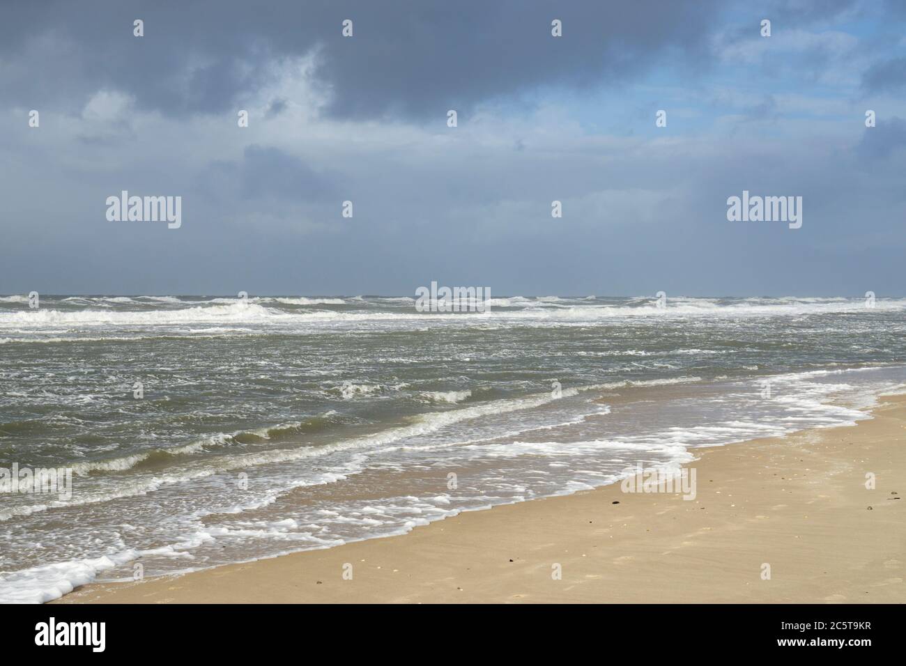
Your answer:
[[[901,298],[480,305],[0,296],[0,602],[399,535],[906,389]]]

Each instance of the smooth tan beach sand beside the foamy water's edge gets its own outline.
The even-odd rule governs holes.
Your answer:
[[[906,602],[906,397],[874,417],[694,449],[694,500],[618,484],[57,603]]]

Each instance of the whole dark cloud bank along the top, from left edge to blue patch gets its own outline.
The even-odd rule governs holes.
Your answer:
[[[74,111],[92,92],[113,88],[169,115],[220,112],[269,82],[269,63],[317,48],[334,115],[434,115],[539,84],[586,86],[678,58],[704,62],[719,6],[58,0],[2,10],[0,58],[12,67],[0,83],[32,106]],[[136,18],[143,38],[132,35]],[[341,34],[346,18],[351,39]],[[564,22],[564,39],[551,37],[554,18]]]

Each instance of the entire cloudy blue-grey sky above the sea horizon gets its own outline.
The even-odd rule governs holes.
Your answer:
[[[0,294],[903,295],[904,35],[882,0],[3,2]]]

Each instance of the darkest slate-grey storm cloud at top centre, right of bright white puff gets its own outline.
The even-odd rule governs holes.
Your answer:
[[[342,82],[333,112],[436,114],[537,84],[622,81],[659,61],[703,59],[717,14],[711,2],[418,6],[388,24],[380,5],[371,5],[354,40],[327,42],[321,72]],[[563,21],[564,39],[551,37],[554,18]]]

